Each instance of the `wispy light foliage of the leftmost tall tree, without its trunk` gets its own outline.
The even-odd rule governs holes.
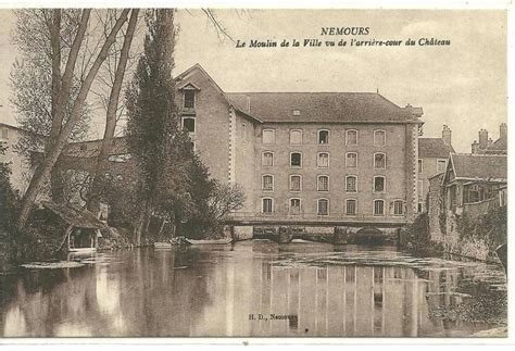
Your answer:
[[[16,10],[16,24],[12,41],[16,45],[21,57],[11,70],[10,102],[16,110],[20,126],[28,131],[22,135],[17,150],[27,154],[29,151],[42,150],[45,139],[52,128],[52,50],[51,26],[53,10],[21,9]],[[67,55],[75,36],[80,11],[76,9],[62,10],[61,55]],[[86,55],[83,52],[83,57]],[[86,58],[85,58],[86,59]],[[62,60],[64,68],[65,60]],[[71,115],[73,101],[80,87],[80,77],[73,80],[71,96],[66,101],[65,123]],[[91,109],[85,104],[80,122],[73,128],[70,140],[77,141],[88,133]]]

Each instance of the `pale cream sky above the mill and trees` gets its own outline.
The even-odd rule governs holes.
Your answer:
[[[470,152],[477,131],[499,137],[506,122],[506,13],[493,10],[216,10],[234,40],[350,41],[436,38],[450,46],[236,48],[199,10],[177,12],[174,74],[200,63],[224,91],[379,91],[398,105],[424,109],[424,136],[453,130]],[[0,10],[0,121],[15,124],[9,72],[16,57],[13,16]],[[366,36],[322,36],[322,27],[369,27]],[[139,39],[138,39],[139,40]],[[96,136],[103,130],[96,116]],[[95,134],[95,133],[93,133]]]

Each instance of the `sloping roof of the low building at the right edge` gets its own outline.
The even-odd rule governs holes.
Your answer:
[[[505,155],[452,154],[456,178],[501,180],[507,178],[507,158]]]

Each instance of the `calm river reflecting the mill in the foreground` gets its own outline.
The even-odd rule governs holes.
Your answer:
[[[389,247],[253,240],[71,260],[0,276],[1,336],[465,337],[506,325],[499,266]]]

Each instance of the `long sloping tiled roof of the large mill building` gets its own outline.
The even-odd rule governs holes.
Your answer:
[[[263,122],[417,122],[411,112],[375,92],[227,92],[226,96],[240,111]],[[296,110],[298,115],[293,114]]]

